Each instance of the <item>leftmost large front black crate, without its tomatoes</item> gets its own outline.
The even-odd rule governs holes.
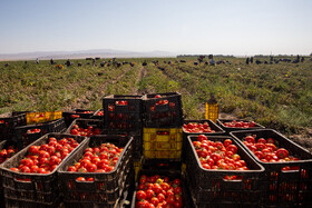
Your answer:
[[[57,175],[57,169],[59,167],[52,172],[46,175],[22,174],[10,170],[11,167],[19,166],[20,160],[28,153],[30,146],[47,143],[50,137],[55,137],[57,140],[62,138],[74,138],[79,142],[79,146],[60,162],[59,167],[67,160],[68,157],[70,157],[71,153],[86,142],[86,137],[48,133],[3,162],[0,166],[0,171],[2,176],[6,207],[57,207],[60,202]],[[20,179],[30,179],[30,181],[21,181]]]

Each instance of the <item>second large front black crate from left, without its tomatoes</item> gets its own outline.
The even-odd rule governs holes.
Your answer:
[[[110,142],[124,147],[116,167],[110,172],[68,172],[69,166],[78,161],[88,147]],[[66,207],[114,207],[119,200],[127,176],[133,170],[133,138],[121,136],[92,136],[82,145],[59,170],[59,186]],[[94,182],[76,181],[78,177],[94,178]]]

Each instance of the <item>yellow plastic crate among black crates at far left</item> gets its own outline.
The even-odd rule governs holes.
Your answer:
[[[61,111],[46,111],[46,112],[27,112],[27,125],[36,125],[40,122],[47,122],[57,120],[62,117]]]

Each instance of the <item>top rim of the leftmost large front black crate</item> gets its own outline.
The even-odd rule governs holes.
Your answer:
[[[60,165],[53,169],[53,171],[51,171],[50,174],[27,174],[27,172],[17,172],[17,171],[13,171],[13,170],[10,170],[10,168],[6,168],[4,165],[7,164],[7,161],[10,161],[10,160],[13,160],[14,158],[17,158],[22,151],[28,151],[28,149],[36,145],[37,142],[41,141],[43,139],[43,137],[49,137],[49,136],[53,136],[53,135],[57,135],[57,136],[65,136],[65,137],[80,137],[80,138],[84,138],[82,141],[79,143],[78,147],[76,147],[71,152],[70,155],[68,155],[66,158],[64,158],[64,160],[60,162]],[[19,152],[17,152],[16,155],[13,155],[11,158],[9,158],[7,161],[4,161],[3,164],[0,165],[0,170],[2,171],[9,171],[10,174],[13,174],[14,176],[25,176],[25,177],[49,177],[49,176],[52,176],[53,174],[57,172],[57,170],[61,167],[62,162],[65,164],[69,157],[71,156],[71,153],[74,153],[77,149],[80,148],[80,146],[82,143],[85,143],[87,140],[87,137],[84,137],[84,136],[74,136],[74,135],[68,135],[68,133],[57,133],[57,132],[50,132],[50,133],[46,133],[43,135],[42,137],[40,137],[39,139],[37,139],[36,141],[33,141],[32,143],[28,145],[27,147],[25,147],[23,149],[21,149]]]

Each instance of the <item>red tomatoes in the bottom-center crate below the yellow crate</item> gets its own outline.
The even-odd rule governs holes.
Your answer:
[[[168,177],[159,175],[139,178],[138,191],[136,192],[136,208],[181,208],[183,207],[181,179],[173,181]]]

